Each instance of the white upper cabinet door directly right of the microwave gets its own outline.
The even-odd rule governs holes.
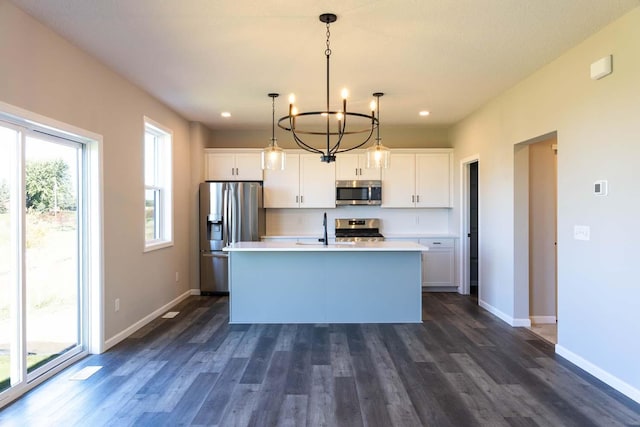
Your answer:
[[[382,207],[415,206],[415,154],[391,154],[389,168],[382,170]]]

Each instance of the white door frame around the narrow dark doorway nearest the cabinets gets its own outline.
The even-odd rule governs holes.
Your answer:
[[[469,255],[471,252],[468,235],[471,232],[470,218],[469,218],[469,166],[472,163],[480,163],[480,154],[473,154],[471,156],[460,159],[460,286],[458,287],[458,293],[463,295],[469,295],[471,293],[471,281],[470,281],[470,262]],[[478,169],[478,195],[480,194],[480,173]],[[481,224],[481,210],[480,210],[480,197],[478,197],[478,230],[480,230]],[[478,247],[480,245],[480,233],[478,233]],[[478,301],[480,301],[480,281],[482,275],[480,256],[478,255]]]

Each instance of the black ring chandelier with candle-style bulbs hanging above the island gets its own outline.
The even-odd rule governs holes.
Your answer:
[[[379,101],[382,92],[376,92],[373,96],[376,101],[370,104],[371,114],[356,113],[347,110],[348,92],[342,91],[342,109],[331,110],[329,99],[329,63],[331,57],[331,46],[329,39],[331,36],[329,24],[335,22],[338,17],[333,13],[323,13],[320,21],[326,24],[327,40],[325,56],[327,58],[327,80],[326,80],[326,104],[322,111],[298,112],[294,106],[295,97],[289,97],[289,114],[278,120],[278,127],[291,132],[298,147],[303,150],[320,154],[320,160],[326,163],[334,162],[337,153],[355,150],[366,144],[373,136],[374,131],[378,131],[375,145],[367,150],[367,167],[387,167],[389,164],[389,149],[381,144],[380,139],[380,111]],[[376,117],[376,110],[378,116]],[[349,123],[347,123],[349,122]],[[351,122],[355,122],[352,124]],[[345,135],[364,134],[359,142],[350,147],[345,147],[343,138]],[[326,144],[322,148],[314,147],[310,142],[305,142],[304,135],[320,135],[326,138]]]

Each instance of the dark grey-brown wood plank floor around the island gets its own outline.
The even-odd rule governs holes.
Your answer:
[[[425,294],[424,323],[407,325],[229,325],[216,297],[176,310],[0,425],[640,425],[640,405],[457,294]],[[69,380],[89,365],[104,367]]]

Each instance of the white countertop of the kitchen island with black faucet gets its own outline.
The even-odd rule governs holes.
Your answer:
[[[296,243],[296,242],[238,242],[223,249],[225,252],[422,252],[429,248],[413,242],[358,243]]]

